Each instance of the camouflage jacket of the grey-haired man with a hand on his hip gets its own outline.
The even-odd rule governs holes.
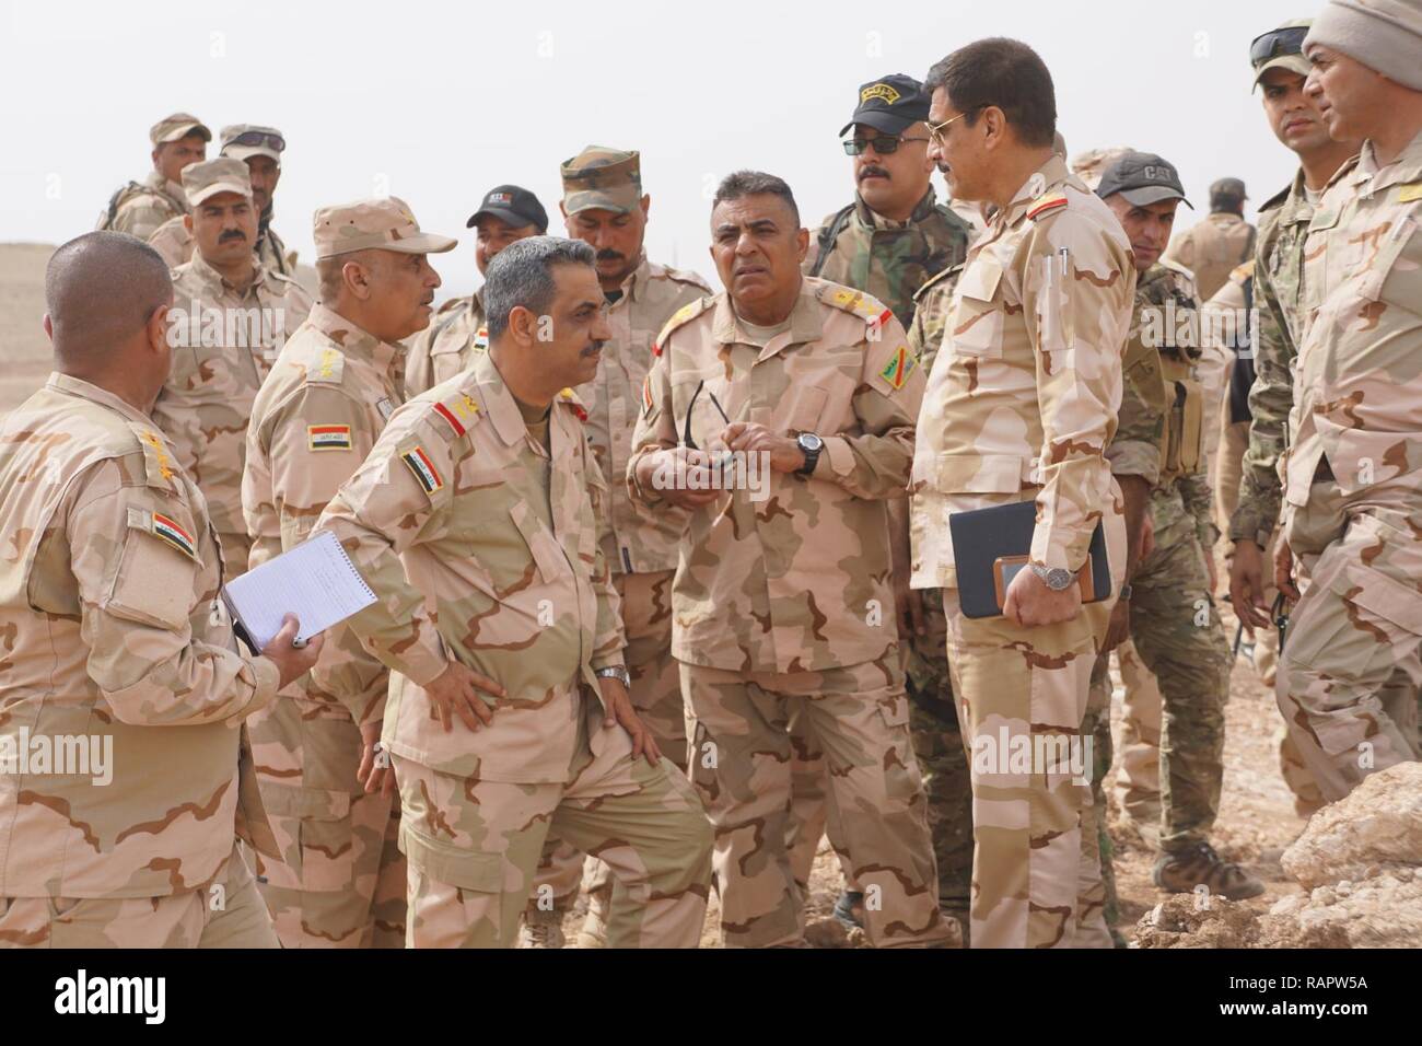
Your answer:
[[[624,645],[584,414],[570,391],[553,403],[550,455],[478,353],[395,413],[321,515],[377,595],[350,628],[398,673],[383,733],[395,754],[478,780],[567,780],[579,685],[600,693],[594,669],[621,665]],[[421,685],[449,660],[505,687],[489,726],[445,733],[432,714]]]

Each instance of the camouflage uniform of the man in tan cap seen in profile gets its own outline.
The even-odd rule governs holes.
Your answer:
[[[400,404],[400,350],[331,312],[311,309],[282,347],[247,428],[242,505],[252,566],[307,537]],[[262,798],[282,860],[262,895],[287,948],[398,948],[405,868],[391,796],[356,780],[360,726],[384,714],[388,673],[344,628],[316,669],[252,722]]]

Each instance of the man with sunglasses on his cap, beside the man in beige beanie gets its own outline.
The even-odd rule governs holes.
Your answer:
[[[1229,519],[1230,602],[1254,639],[1254,670],[1268,687],[1277,679],[1278,630],[1268,615],[1277,589],[1273,571],[1266,571],[1264,564],[1273,559],[1281,504],[1277,465],[1294,404],[1293,364],[1303,333],[1304,239],[1324,189],[1352,171],[1362,144],[1334,141],[1317,100],[1304,93],[1310,67],[1303,43],[1311,24],[1311,19],[1285,21],[1261,33],[1250,46],[1254,85],[1263,88],[1270,130],[1300,162],[1293,182],[1258,209],[1258,260],[1251,269],[1250,296],[1258,322],[1254,383],[1249,391],[1249,448],[1240,463],[1237,508]],[[1241,283],[1241,297],[1243,290]],[[1220,481],[1226,481],[1223,467]],[[1392,686],[1405,692],[1412,682],[1401,672]],[[1278,766],[1300,817],[1307,818],[1324,805],[1285,723],[1278,729]]]

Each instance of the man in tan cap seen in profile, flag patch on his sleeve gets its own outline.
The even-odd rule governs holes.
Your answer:
[[[401,401],[400,340],[429,323],[439,276],[427,255],[455,246],[394,196],[321,208],[313,238],[321,300],[282,347],[247,428],[253,566],[306,541],[375,444]],[[292,699],[252,724],[282,844],[262,895],[287,948],[400,948],[398,805],[374,766],[388,676],[344,626],[330,640]]]

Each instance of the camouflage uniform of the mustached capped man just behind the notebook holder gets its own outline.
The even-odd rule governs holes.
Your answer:
[[[311,310],[311,297],[294,280],[260,265],[252,283],[237,290],[198,255],[173,272],[173,310],[182,310],[188,323],[171,326],[172,370],[154,404],[154,421],[208,498],[226,575],[237,578],[247,569],[252,548],[242,518],[252,404],[287,334]],[[212,315],[220,329],[203,324]],[[229,326],[232,316],[240,317],[240,324]]]

